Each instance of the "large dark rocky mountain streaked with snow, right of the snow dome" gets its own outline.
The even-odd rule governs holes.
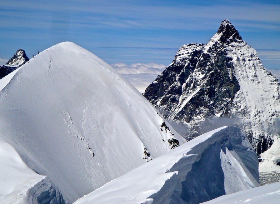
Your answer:
[[[186,140],[235,125],[260,154],[279,136],[279,93],[257,52],[224,20],[206,45],[183,45],[143,95]]]

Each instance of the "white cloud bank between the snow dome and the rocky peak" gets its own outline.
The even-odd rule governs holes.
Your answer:
[[[143,93],[148,85],[166,68],[165,65],[156,63],[134,63],[130,65],[115,63],[112,64],[112,66],[141,93]]]

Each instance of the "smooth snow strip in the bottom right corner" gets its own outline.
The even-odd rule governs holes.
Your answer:
[[[221,196],[203,204],[277,204],[280,202],[280,182]]]

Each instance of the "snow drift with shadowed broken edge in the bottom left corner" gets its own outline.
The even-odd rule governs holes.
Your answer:
[[[64,203],[52,179],[33,172],[15,149],[1,140],[0,158],[0,203]]]

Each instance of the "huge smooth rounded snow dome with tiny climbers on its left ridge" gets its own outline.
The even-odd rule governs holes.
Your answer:
[[[129,82],[82,47],[59,43],[28,62],[0,92],[0,137],[51,177],[67,202],[184,143]]]

